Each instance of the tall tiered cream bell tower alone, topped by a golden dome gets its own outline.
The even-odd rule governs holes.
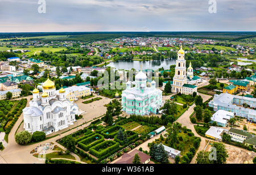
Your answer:
[[[180,50],[177,53],[176,67],[175,67],[175,75],[174,75],[174,83],[172,85],[172,92],[182,93],[183,84],[187,83],[187,73],[186,73],[186,61],[185,61],[185,53],[182,49],[182,45],[180,46]]]

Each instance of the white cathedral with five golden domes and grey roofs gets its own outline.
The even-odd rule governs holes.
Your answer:
[[[65,89],[61,86],[56,93],[55,83],[49,78],[42,88],[40,94],[35,87],[30,106],[23,109],[24,129],[30,133],[43,131],[48,135],[73,125],[79,108],[72,99],[66,98]]]

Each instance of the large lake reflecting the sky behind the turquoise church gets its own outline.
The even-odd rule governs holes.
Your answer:
[[[160,61],[118,61],[118,62],[110,62],[107,66],[114,67],[116,69],[125,69],[131,70],[132,68],[136,70],[141,69],[152,69],[157,70],[161,67],[164,69],[170,69],[171,65],[175,65],[175,59],[164,59]]]

